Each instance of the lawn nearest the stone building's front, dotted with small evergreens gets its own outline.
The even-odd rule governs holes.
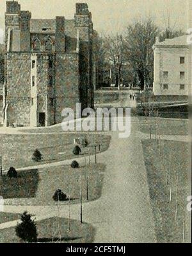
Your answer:
[[[42,131],[42,130],[41,130]],[[3,157],[3,169],[10,167],[28,167],[42,163],[51,163],[74,158],[74,139],[83,137],[88,140],[88,147],[82,148],[83,154],[94,154],[93,143],[100,143],[100,152],[109,147],[110,136],[97,134],[1,134],[0,152]],[[31,158],[38,149],[43,160],[36,163]],[[82,156],[82,155],[81,155]]]

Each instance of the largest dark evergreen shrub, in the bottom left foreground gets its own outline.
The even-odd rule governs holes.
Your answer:
[[[18,223],[15,232],[17,237],[22,239],[25,242],[36,242],[37,241],[37,232],[36,224],[31,220],[31,215],[27,212],[24,212],[21,216],[21,223]]]

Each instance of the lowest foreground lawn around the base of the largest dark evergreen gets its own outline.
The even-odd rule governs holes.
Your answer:
[[[61,243],[92,243],[95,229],[87,223],[70,220],[70,232],[68,232],[68,219],[52,217],[44,221],[37,221],[38,242],[51,243],[60,242],[59,228],[61,232]],[[0,243],[20,243],[19,237],[15,235],[15,228],[1,230]]]

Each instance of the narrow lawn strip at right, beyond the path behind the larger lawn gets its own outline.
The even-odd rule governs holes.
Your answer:
[[[152,134],[161,135],[188,135],[189,121],[188,120],[173,120],[166,118],[154,117],[139,117],[140,131],[142,133],[150,133],[150,125],[152,125]]]

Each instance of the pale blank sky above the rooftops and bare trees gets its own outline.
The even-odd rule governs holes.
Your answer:
[[[94,29],[99,33],[122,32],[129,23],[140,17],[152,16],[163,26],[170,13],[172,24],[184,30],[188,24],[188,0],[17,0],[22,10],[29,10],[32,19],[52,19],[63,15],[74,17],[76,3],[88,3]],[[6,0],[0,0],[0,42],[3,41]]]

